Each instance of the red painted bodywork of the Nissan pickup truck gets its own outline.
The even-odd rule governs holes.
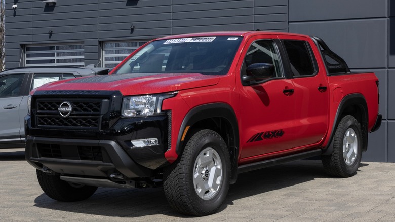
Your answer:
[[[176,146],[179,135],[184,132],[181,126],[185,116],[192,108],[204,104],[224,103],[233,108],[238,121],[238,126],[233,127],[237,127],[239,131],[239,165],[316,147],[326,147],[331,139],[339,104],[349,94],[359,93],[366,99],[369,110],[368,131],[372,129],[378,113],[377,77],[374,73],[327,76],[320,51],[308,36],[282,32],[240,31],[184,34],[160,40],[197,36],[243,38],[226,75],[161,73],[133,77],[133,74],[130,74],[130,79],[114,82],[72,83],[66,80],[50,83],[36,90],[116,90],[125,96],[178,92],[175,97],[164,100],[162,105],[163,110],[172,110],[172,141],[171,147],[165,152],[165,158],[170,163],[178,158]],[[244,86],[240,76],[242,64],[247,49],[257,39],[307,41],[317,60],[317,75],[290,78],[290,73],[284,73],[283,79]],[[138,51],[128,56],[112,72]],[[327,87],[326,90],[320,91],[318,87],[323,86]],[[283,89],[294,89],[294,93],[286,95]],[[265,132],[283,133],[274,136],[275,138],[264,139],[262,136]],[[257,135],[257,138],[262,137],[262,140],[253,138],[254,135]]]

